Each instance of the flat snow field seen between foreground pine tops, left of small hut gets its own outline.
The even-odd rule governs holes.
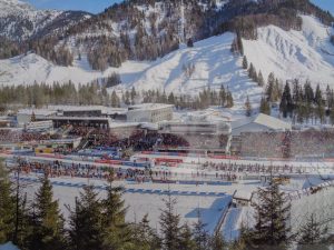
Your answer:
[[[31,176],[30,176],[31,178]],[[31,179],[32,180],[32,179]],[[68,206],[73,208],[75,198],[82,191],[79,187],[66,187],[63,183],[78,183],[87,184],[88,182],[94,186],[106,186],[106,181],[101,180],[87,180],[80,178],[51,178],[53,182],[55,198],[59,200],[61,211],[65,217],[69,216]],[[55,183],[56,182],[56,183]],[[220,218],[222,212],[227,209],[232,197],[230,187],[226,187],[226,194],[209,196],[209,194],[181,194],[181,192],[210,192],[210,191],[225,191],[225,187],[209,187],[209,186],[195,186],[195,184],[157,184],[157,183],[131,183],[126,181],[116,181],[114,184],[122,186],[127,190],[124,193],[126,207],[128,207],[126,220],[128,222],[140,221],[145,214],[148,214],[150,226],[159,229],[159,216],[161,209],[165,209],[165,201],[167,194],[147,193],[143,190],[170,190],[173,199],[176,199],[176,212],[180,214],[181,223],[188,222],[190,226],[197,221],[197,212],[199,211],[200,218],[206,223],[206,229],[212,233]],[[26,181],[29,198],[37,190],[39,184],[33,181]],[[128,191],[129,189],[139,190],[138,192]],[[98,190],[102,198],[106,192]]]

